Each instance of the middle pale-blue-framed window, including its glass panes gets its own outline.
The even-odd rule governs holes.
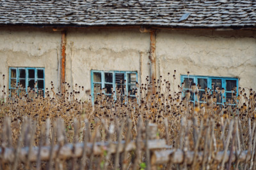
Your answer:
[[[102,92],[111,97],[116,88],[119,89],[120,96],[135,96],[136,82],[138,81],[137,72],[134,71],[95,71],[92,70],[92,97]],[[117,94],[118,95],[118,94]]]

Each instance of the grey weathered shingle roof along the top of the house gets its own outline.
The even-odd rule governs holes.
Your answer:
[[[255,27],[248,0],[0,0],[0,25]]]

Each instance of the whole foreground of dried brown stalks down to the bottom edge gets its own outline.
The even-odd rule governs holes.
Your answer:
[[[190,86],[199,97],[198,85]],[[78,96],[90,96],[90,92],[81,87],[73,90],[68,83],[64,83],[62,94],[52,84],[51,89],[45,89],[45,97],[33,92],[10,94],[2,86],[1,169],[254,169],[255,91],[250,89],[248,95],[237,87],[239,94],[234,89],[233,99],[221,106],[216,104],[220,90],[205,89],[204,103],[192,103],[190,92],[184,92],[183,87],[184,83],[174,92],[169,81],[160,78],[150,83],[147,78],[134,89],[136,97],[122,96],[122,89],[113,89],[109,97],[102,89],[94,94],[95,101],[81,101]],[[150,125],[156,125],[156,131],[148,130]],[[164,139],[166,146],[149,152],[149,139]],[[17,148],[26,146],[122,140],[136,141],[137,149],[112,154],[106,146],[106,152],[92,157],[92,147],[86,160],[70,156],[71,163],[64,158],[49,158],[50,163],[15,159],[15,155],[21,157]],[[138,140],[144,141],[145,147]],[[4,148],[13,148],[9,160]],[[24,157],[28,159],[28,154]],[[76,161],[79,166],[74,166]]]

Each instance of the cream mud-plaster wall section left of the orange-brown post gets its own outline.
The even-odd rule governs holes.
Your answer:
[[[58,89],[61,33],[51,29],[0,27],[0,89],[8,87],[8,67],[44,67],[45,87]]]

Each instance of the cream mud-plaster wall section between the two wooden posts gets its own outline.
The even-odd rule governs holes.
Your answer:
[[[68,29],[66,81],[91,89],[91,70],[149,74],[150,34],[139,29]]]

